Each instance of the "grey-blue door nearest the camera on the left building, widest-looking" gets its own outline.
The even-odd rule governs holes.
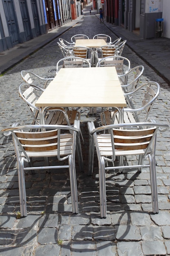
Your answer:
[[[15,11],[13,7],[13,0],[3,0],[4,12],[7,19],[7,25],[9,30],[9,35],[11,36],[12,45],[17,45],[19,43],[18,39],[18,25],[16,22]]]

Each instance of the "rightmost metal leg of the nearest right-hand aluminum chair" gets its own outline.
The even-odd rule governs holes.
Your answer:
[[[150,185],[152,191],[152,206],[153,213],[158,213],[158,194],[157,194],[157,176],[156,176],[156,168],[155,168],[155,157],[151,154],[148,155],[149,163],[150,163]]]

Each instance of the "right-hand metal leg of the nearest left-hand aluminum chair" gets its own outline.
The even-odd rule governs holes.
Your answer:
[[[71,188],[71,200],[72,200],[72,211],[78,213],[78,196],[77,196],[77,179],[75,171],[75,159],[72,159],[71,155],[68,158],[69,162],[69,173],[70,173],[70,188]]]

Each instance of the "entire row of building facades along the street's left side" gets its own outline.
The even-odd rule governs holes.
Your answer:
[[[82,0],[0,0],[0,52],[76,19]]]

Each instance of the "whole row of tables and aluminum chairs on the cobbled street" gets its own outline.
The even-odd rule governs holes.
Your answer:
[[[97,108],[101,109],[100,126],[87,123],[88,175],[93,174],[96,152],[101,218],[107,216],[107,170],[121,173],[130,168],[138,172],[150,168],[153,213],[158,213],[156,135],[158,131],[168,130],[169,126],[150,120],[160,86],[154,81],[141,83],[144,67],[131,67],[130,61],[121,56],[125,43],[121,38],[112,42],[112,38],[105,34],[95,35],[93,39],[75,35],[71,43],[59,38],[58,46],[64,58],[57,62],[54,78],[44,79],[31,71],[21,71],[24,83],[19,86],[19,95],[26,103],[33,123],[13,124],[1,134],[13,137],[22,217],[27,215],[24,171],[36,169],[68,168],[72,211],[78,213],[75,155],[79,171],[83,171],[82,108],[89,108],[90,115],[95,115]],[[35,83],[34,78],[40,83]],[[128,159],[132,155],[137,156],[137,163],[124,165],[124,157]],[[44,166],[33,166],[32,159],[38,157],[44,157]],[[51,166],[50,157],[56,157],[55,166]]]

